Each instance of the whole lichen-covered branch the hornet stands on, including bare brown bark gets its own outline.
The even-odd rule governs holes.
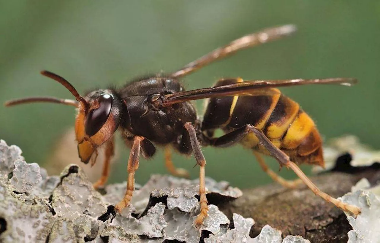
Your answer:
[[[18,147],[0,140],[0,241],[290,243],[345,242],[349,235],[350,243],[370,242],[370,237],[380,237],[380,200],[359,188],[378,185],[380,170],[377,164],[355,169],[346,157],[340,157],[346,159],[340,161],[344,166],[312,180],[334,197],[355,185],[355,193],[342,200],[362,208],[358,219],[348,216],[347,221],[342,211],[306,187],[288,190],[271,184],[242,193],[225,181],[206,178],[211,205],[197,230],[198,180],[153,175],[137,186],[132,206],[117,215],[113,205],[123,197],[126,183],[108,185],[101,194],[77,165],[49,177],[38,164],[26,163]],[[356,185],[363,177],[367,180]],[[380,186],[372,189],[380,191]]]

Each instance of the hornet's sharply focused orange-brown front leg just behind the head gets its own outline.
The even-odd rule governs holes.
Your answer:
[[[133,140],[133,145],[128,159],[128,180],[127,191],[123,200],[116,204],[115,211],[121,213],[121,210],[128,206],[132,199],[133,191],[135,190],[135,172],[139,167],[140,144],[144,137],[136,136]]]

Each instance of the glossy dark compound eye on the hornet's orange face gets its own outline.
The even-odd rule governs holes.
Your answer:
[[[86,133],[89,136],[93,136],[100,128],[106,123],[112,108],[112,96],[109,94],[101,95],[98,98],[99,107],[97,109],[90,110],[87,114],[86,120]]]

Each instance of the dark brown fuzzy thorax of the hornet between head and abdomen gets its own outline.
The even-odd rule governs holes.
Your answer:
[[[177,79],[151,77],[127,84],[116,93],[123,104],[122,136],[146,137],[157,145],[171,144],[180,153],[192,153],[185,123],[196,123],[196,110],[190,101],[162,105],[164,95],[184,91]]]

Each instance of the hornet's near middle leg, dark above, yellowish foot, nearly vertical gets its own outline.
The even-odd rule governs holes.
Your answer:
[[[207,211],[209,211],[209,207],[207,206],[207,198],[206,198],[206,188],[204,185],[204,166],[206,165],[206,159],[204,159],[201,146],[199,145],[198,139],[196,137],[195,129],[191,122],[187,122],[185,124],[185,128],[187,129],[190,135],[190,142],[193,148],[194,157],[196,159],[196,163],[199,164],[199,204],[201,205],[201,211],[199,215],[195,219],[195,227],[200,228],[203,225],[204,218],[207,216]]]

